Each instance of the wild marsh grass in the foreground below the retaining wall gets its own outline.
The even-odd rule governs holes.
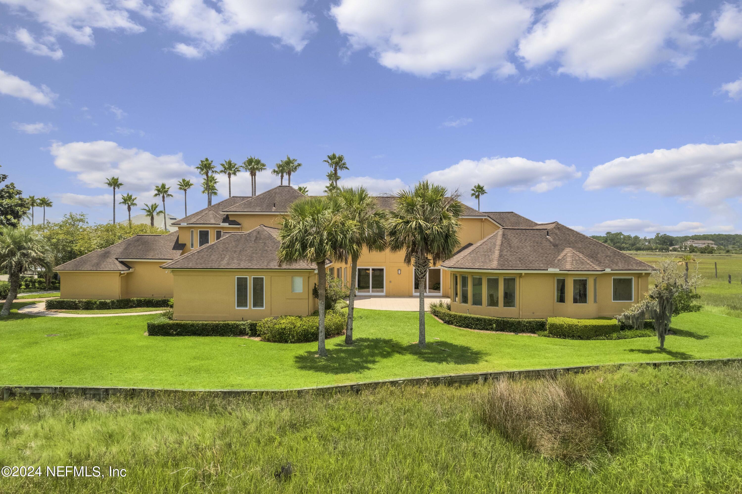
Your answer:
[[[524,338],[525,339],[525,338]],[[3,465],[97,465],[125,478],[0,478],[6,493],[647,493],[742,490],[742,368],[603,369],[577,384],[615,438],[585,464],[482,420],[491,384],[300,398],[168,395],[0,402]],[[7,429],[6,429],[7,427]],[[2,434],[4,432],[4,435]],[[294,474],[276,478],[291,463]]]

